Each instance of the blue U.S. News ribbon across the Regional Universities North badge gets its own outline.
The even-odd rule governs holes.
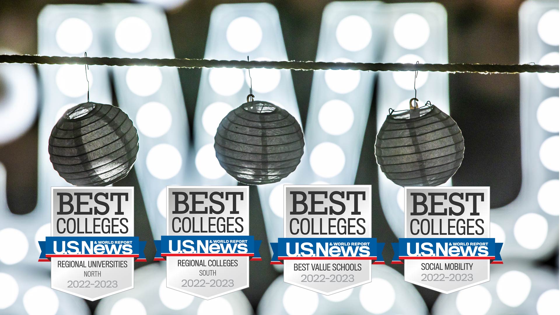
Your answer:
[[[39,241],[39,261],[51,257],[136,257],[146,261],[146,241],[138,237],[46,237]]]

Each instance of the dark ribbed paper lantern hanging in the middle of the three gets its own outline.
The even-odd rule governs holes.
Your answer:
[[[222,119],[214,137],[216,158],[238,182],[278,182],[292,173],[304,154],[304,133],[286,110],[250,101]]]

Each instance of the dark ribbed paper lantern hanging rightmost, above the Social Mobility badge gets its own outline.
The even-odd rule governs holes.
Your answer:
[[[461,166],[465,150],[457,123],[436,106],[388,115],[377,134],[377,164],[400,186],[437,186]]]

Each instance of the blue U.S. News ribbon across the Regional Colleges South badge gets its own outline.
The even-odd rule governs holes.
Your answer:
[[[259,247],[262,240],[253,236],[190,236],[162,235],[155,240],[155,261],[165,260],[167,256],[247,256],[252,261],[260,261]]]

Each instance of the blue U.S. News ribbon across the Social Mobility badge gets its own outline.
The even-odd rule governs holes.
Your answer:
[[[393,261],[401,260],[491,260],[503,263],[503,243],[494,238],[399,238],[393,245]]]

